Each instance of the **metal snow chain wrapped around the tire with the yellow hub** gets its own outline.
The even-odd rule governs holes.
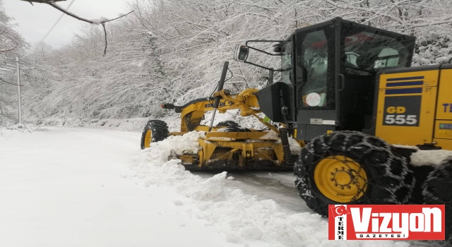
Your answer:
[[[379,176],[379,178],[373,179],[374,181],[379,181],[380,179],[388,178],[388,177],[391,179],[400,181],[400,183],[398,185],[392,184],[393,187],[382,186],[379,183],[371,182],[368,179],[365,179],[364,177],[360,176],[359,171],[363,168],[360,168],[359,171],[355,171],[354,169],[352,169],[350,167],[350,165],[348,164],[347,161],[338,159],[338,161],[343,162],[345,164],[345,166],[348,169],[350,169],[350,171],[353,171],[354,175],[356,175],[355,179],[353,179],[352,182],[355,182],[354,184],[358,188],[358,193],[357,193],[357,195],[355,195],[352,198],[352,200],[350,200],[350,204],[357,202],[357,200],[358,200],[357,196],[360,194],[363,194],[362,200],[364,203],[370,203],[370,201],[371,201],[371,198],[366,198],[364,191],[359,188],[359,179],[362,179],[368,185],[381,188],[382,190],[388,191],[388,193],[391,194],[391,196],[389,198],[384,198],[383,200],[381,200],[380,201],[381,203],[388,203],[388,204],[408,203],[408,200],[411,197],[412,188],[415,185],[415,178],[413,176],[412,171],[410,171],[408,169],[405,157],[398,157],[396,155],[393,155],[393,152],[391,152],[391,146],[388,145],[383,140],[376,138],[374,136],[370,136],[370,135],[366,135],[361,132],[357,132],[357,131],[338,131],[335,133],[331,133],[329,135],[321,135],[321,136],[311,140],[311,142],[302,149],[302,151],[300,152],[300,155],[299,155],[299,159],[297,160],[295,167],[294,167],[294,173],[295,173],[295,177],[297,179],[295,181],[295,184],[296,184],[297,188],[299,189],[299,195],[304,200],[320,199],[323,201],[323,203],[325,205],[331,204],[331,202],[327,202],[326,200],[324,200],[322,196],[316,195],[316,192],[314,192],[314,195],[312,194],[313,191],[311,191],[310,186],[309,186],[309,184],[312,184],[311,177],[309,176],[309,174],[311,174],[311,173],[307,170],[307,167],[308,167],[308,163],[312,164],[313,162],[307,162],[306,159],[309,159],[309,155],[311,155],[312,159],[314,159],[314,160],[318,160],[321,157],[333,156],[333,154],[331,154],[332,145],[338,145],[338,143],[333,144],[333,142],[342,137],[345,137],[343,140],[343,143],[341,145],[343,148],[342,148],[342,150],[335,150],[336,152],[338,152],[338,151],[339,152],[350,152],[353,150],[362,150],[362,149],[364,149],[364,147],[367,147],[367,150],[365,150],[363,152],[361,159],[366,157],[373,151],[386,152],[388,154],[388,158],[387,158],[386,162],[383,164],[379,163],[377,166],[380,169],[381,169],[381,166],[383,166],[384,173],[381,176]],[[352,143],[352,145],[350,145],[349,142],[350,142],[350,138],[352,138],[352,137],[355,137],[355,138],[359,137],[362,140],[359,141],[358,143]],[[314,151],[315,150],[314,145],[316,143],[320,143],[323,151],[327,152],[328,155],[325,156],[325,155],[316,154]],[[375,143],[379,143],[381,146],[376,146]],[[309,150],[309,153],[303,153],[304,150]],[[337,155],[337,154],[334,154],[334,155]],[[317,159],[314,157],[317,157]],[[400,172],[399,175],[393,174],[393,172],[391,171],[391,162],[393,162],[393,160],[398,160],[398,162],[400,162],[400,165],[402,166],[402,171]],[[359,163],[360,160],[355,159],[355,161]],[[371,164],[371,165],[374,165],[374,164]],[[312,166],[312,167],[315,167],[315,166]],[[409,179],[405,183],[404,180],[405,180],[406,176],[410,176],[411,179]],[[398,196],[396,195],[397,191],[399,191],[400,189],[405,189],[408,192],[408,193],[406,193],[405,196],[403,196],[403,198],[398,198]],[[307,193],[305,193],[305,192],[307,192]],[[361,198],[359,198],[359,199],[361,199]],[[364,204],[363,202],[360,204]],[[315,212],[321,212],[320,207],[322,207],[322,206],[324,206],[324,205],[320,205],[319,203],[317,203],[317,206],[312,209]],[[324,215],[324,213],[321,215],[323,217],[328,216],[328,215]]]

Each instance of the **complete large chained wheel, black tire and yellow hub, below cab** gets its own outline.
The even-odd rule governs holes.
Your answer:
[[[323,217],[330,204],[408,203],[415,184],[405,157],[356,131],[314,138],[302,148],[294,174],[299,195]]]

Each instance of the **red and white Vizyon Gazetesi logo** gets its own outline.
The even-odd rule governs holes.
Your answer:
[[[444,205],[329,205],[331,240],[444,240]]]

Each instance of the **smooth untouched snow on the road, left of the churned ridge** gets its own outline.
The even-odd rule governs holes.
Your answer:
[[[139,133],[48,129],[0,137],[0,246],[237,246],[120,177]]]

